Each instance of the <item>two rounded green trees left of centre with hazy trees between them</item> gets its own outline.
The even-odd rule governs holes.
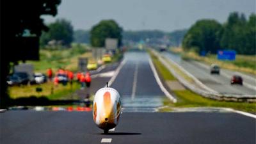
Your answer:
[[[102,20],[91,31],[74,31],[71,22],[65,19],[58,19],[48,27],[49,31],[43,32],[40,37],[40,45],[43,47],[52,40],[67,47],[74,39],[78,43],[88,43],[90,40],[93,47],[104,47],[106,38],[117,38],[118,45],[122,43],[122,28],[114,20]]]

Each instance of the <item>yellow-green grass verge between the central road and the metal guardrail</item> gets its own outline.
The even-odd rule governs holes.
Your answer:
[[[159,76],[162,77],[164,81],[170,80],[168,77],[172,77],[171,80],[175,80],[175,77],[167,70],[166,67],[164,67],[164,65],[161,64],[161,62],[156,56],[154,56],[154,54],[152,54],[152,52],[150,52],[150,56],[154,65],[156,66],[157,72],[159,72]],[[172,103],[168,98],[166,98],[163,100],[164,106],[166,107],[160,109],[160,111],[170,111],[172,108],[220,107],[256,113],[255,103],[212,100],[202,97],[201,95],[191,92],[190,90],[173,90],[173,93],[175,93],[177,96],[177,103]]]

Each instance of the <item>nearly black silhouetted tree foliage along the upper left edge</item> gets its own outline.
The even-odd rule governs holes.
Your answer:
[[[47,31],[41,15],[57,14],[61,0],[0,1],[0,108],[10,105],[6,77],[10,62],[39,60],[39,37]]]

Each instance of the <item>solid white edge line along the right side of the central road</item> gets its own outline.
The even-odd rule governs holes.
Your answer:
[[[156,72],[156,68],[154,67],[154,64],[152,63],[151,58],[148,58],[149,61],[149,65],[151,70],[153,71],[154,77],[156,79],[157,84],[159,85],[160,89],[162,90],[162,92],[164,93],[164,95],[166,95],[166,97],[168,97],[170,100],[172,100],[174,103],[177,102],[177,99],[175,99],[175,97],[173,97],[163,86],[163,83],[161,83],[161,80]]]

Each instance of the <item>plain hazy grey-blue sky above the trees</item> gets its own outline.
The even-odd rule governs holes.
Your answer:
[[[115,20],[125,30],[189,28],[199,19],[225,22],[230,12],[255,13],[256,0],[62,0],[56,17],[65,18],[74,29],[91,29],[103,19]]]

